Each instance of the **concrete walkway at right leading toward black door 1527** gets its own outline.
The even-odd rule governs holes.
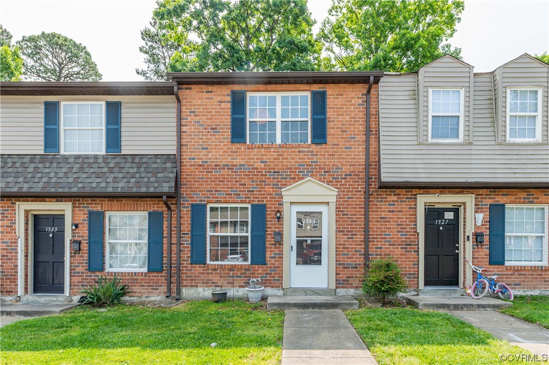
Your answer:
[[[535,353],[549,355],[549,329],[492,311],[446,311],[502,340]]]

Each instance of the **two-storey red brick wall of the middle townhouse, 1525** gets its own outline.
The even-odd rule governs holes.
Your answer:
[[[328,143],[232,144],[231,89],[249,92],[326,89]],[[273,232],[283,231],[283,223],[275,220],[275,212],[283,208],[280,190],[306,177],[339,190],[336,285],[338,289],[360,288],[364,261],[366,89],[367,85],[180,88],[183,288],[244,288],[251,277],[260,277],[266,287],[282,288],[282,245],[275,245]],[[374,86],[372,119],[376,118],[377,86]],[[267,265],[191,265],[192,203],[266,204]]]

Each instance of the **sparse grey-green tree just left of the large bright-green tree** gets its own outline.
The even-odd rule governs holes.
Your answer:
[[[141,31],[141,39],[144,46],[139,47],[139,52],[145,54],[147,68],[136,69],[136,73],[145,80],[168,80],[170,62],[176,53],[180,53],[182,45],[174,42],[166,34],[166,31],[158,29],[158,20],[150,21],[150,28]],[[194,55],[191,54],[191,57]]]

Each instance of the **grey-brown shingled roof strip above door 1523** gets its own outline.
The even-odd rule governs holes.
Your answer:
[[[2,155],[0,193],[173,195],[175,155]]]

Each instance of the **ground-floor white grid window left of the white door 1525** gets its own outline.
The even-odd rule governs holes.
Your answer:
[[[208,262],[249,263],[250,206],[208,206]]]

